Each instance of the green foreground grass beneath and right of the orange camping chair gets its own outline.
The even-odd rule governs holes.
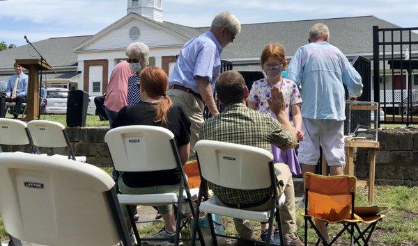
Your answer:
[[[102,167],[110,174],[111,168]],[[359,188],[357,192],[356,205],[367,205],[367,192],[364,188]],[[376,231],[371,237],[373,245],[418,245],[418,187],[404,186],[376,186],[376,202],[380,206],[387,206],[387,215],[382,222],[378,222]],[[297,233],[300,238],[304,236],[304,220],[302,209],[297,209]],[[235,228],[231,218],[224,218],[226,233],[235,235]],[[162,223],[150,223],[139,227],[141,235],[152,235],[162,228]],[[254,238],[259,238],[259,224],[254,222]],[[341,227],[338,224],[330,225],[330,236],[336,235]],[[364,228],[364,225],[362,226]],[[188,235],[188,229],[182,234]],[[0,218],[0,238],[7,239],[6,230]],[[309,243],[316,242],[316,234],[313,229],[309,229]],[[185,243],[189,245],[188,243]],[[348,245],[349,236],[344,234],[336,245]]]

